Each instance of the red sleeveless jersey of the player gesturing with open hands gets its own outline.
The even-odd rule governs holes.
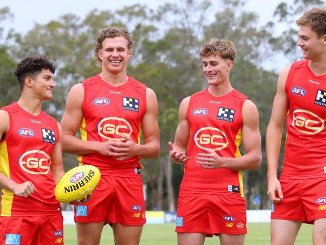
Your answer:
[[[203,169],[196,163],[203,148],[221,157],[240,157],[242,105],[247,99],[236,90],[215,97],[208,89],[190,97],[187,119],[190,138],[180,193],[231,194],[243,197],[241,171],[226,168]]]

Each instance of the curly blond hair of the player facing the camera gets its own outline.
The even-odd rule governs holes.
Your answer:
[[[127,47],[130,52],[130,58],[132,57],[132,46],[134,44],[134,41],[132,40],[131,34],[123,28],[108,27],[100,31],[94,46],[95,59],[100,65],[102,64],[102,60],[98,56],[97,52],[102,48],[102,42],[104,41],[105,38],[115,38],[115,37],[124,37],[127,40],[128,42]]]

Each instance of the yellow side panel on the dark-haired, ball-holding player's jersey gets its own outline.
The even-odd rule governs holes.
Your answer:
[[[0,172],[10,178],[9,157],[6,142],[0,144]],[[1,200],[1,216],[12,216],[14,193],[5,189],[2,191],[4,194]]]

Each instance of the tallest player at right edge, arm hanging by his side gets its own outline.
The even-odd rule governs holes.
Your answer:
[[[294,244],[302,222],[326,244],[326,9],[296,20],[303,60],[282,69],[266,132],[272,244]],[[286,141],[277,179],[283,122]]]

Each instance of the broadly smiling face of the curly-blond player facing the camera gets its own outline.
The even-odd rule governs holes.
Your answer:
[[[105,38],[98,56],[102,61],[102,71],[105,69],[114,74],[125,72],[130,58],[127,40],[124,37]]]

